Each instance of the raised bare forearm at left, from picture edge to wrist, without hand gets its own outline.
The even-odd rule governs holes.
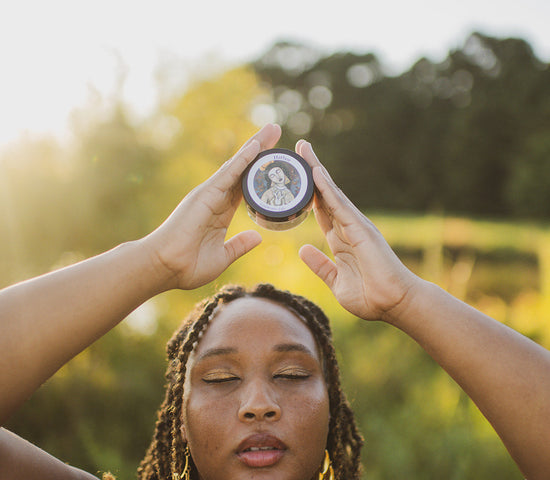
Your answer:
[[[0,292],[0,419],[65,362],[166,289],[141,242]]]

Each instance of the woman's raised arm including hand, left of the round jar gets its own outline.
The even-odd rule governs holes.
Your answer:
[[[0,291],[0,420],[3,423],[64,363],[152,296],[215,279],[261,241],[225,241],[241,200],[239,178],[280,128],[267,125],[190,192],[147,237]]]

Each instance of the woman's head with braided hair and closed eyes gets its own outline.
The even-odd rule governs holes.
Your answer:
[[[174,334],[168,360],[140,479],[180,478],[185,465],[200,478],[359,478],[362,439],[328,319],[310,301],[271,285],[222,289]]]

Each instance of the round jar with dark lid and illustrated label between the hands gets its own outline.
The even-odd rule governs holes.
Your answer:
[[[244,171],[242,189],[252,220],[269,230],[288,230],[311,210],[311,167],[291,150],[265,150]]]

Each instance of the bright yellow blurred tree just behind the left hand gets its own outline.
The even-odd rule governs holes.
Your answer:
[[[198,81],[161,106],[153,124],[169,130],[170,140],[156,189],[158,218],[168,215],[255,131],[250,112],[262,92],[254,72],[242,67]]]

